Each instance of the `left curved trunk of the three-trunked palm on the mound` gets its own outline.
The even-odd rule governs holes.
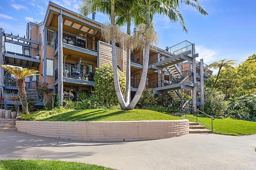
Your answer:
[[[115,24],[115,1],[112,0],[111,1],[111,24],[114,25]],[[114,32],[114,31],[113,31]],[[120,88],[120,84],[119,84],[119,78],[118,78],[118,70],[117,70],[117,61],[116,61],[116,41],[115,41],[115,37],[113,35],[112,37],[112,41],[111,41],[112,45],[112,65],[113,65],[113,74],[114,74],[114,86],[115,86],[115,91],[116,91],[116,97],[117,100],[120,104],[121,109],[126,109],[126,103],[124,101],[124,97],[122,96],[122,91]]]

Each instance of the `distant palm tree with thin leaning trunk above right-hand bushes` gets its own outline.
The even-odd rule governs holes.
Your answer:
[[[214,88],[214,86],[216,85],[217,80],[218,80],[218,78],[219,78],[219,76],[220,76],[220,71],[221,71],[221,69],[222,69],[222,68],[232,69],[232,68],[233,68],[232,65],[236,64],[236,62],[234,62],[234,61],[235,61],[235,60],[223,59],[223,60],[221,60],[221,61],[216,61],[216,62],[214,62],[214,63],[212,63],[212,64],[209,65],[210,68],[214,68],[214,69],[219,68],[218,74],[217,74],[217,77],[216,77],[216,80],[215,80],[214,84],[212,85],[213,88]]]

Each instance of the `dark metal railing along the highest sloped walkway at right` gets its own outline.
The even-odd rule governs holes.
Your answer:
[[[190,43],[188,41],[183,41],[183,42],[178,43],[172,47],[169,47],[168,49],[165,49],[158,53],[150,55],[148,64],[157,63],[159,61],[165,60],[174,55],[178,55],[178,54],[184,53],[189,50],[192,51],[192,43]]]

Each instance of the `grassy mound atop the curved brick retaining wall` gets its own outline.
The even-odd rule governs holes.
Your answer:
[[[63,112],[38,111],[32,113],[36,121],[140,121],[180,120],[179,117],[152,110],[86,109]]]

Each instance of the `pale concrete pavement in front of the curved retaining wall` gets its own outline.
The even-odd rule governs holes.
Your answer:
[[[256,170],[256,135],[190,134],[138,142],[81,142],[0,133],[0,159],[84,162],[118,170]]]

